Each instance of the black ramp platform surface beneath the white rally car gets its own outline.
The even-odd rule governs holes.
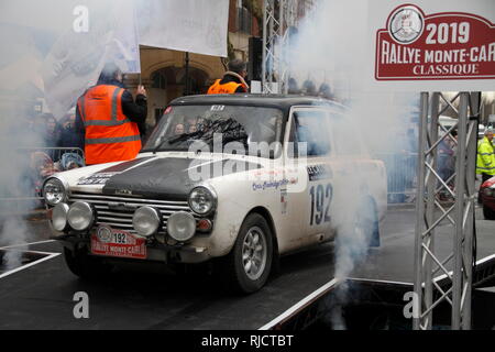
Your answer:
[[[61,252],[61,246],[30,250]],[[201,273],[123,272],[88,283],[58,255],[0,278],[0,329],[257,329],[330,279],[332,257],[331,246],[287,257],[261,292],[237,297]],[[89,296],[89,319],[73,316],[77,292]]]

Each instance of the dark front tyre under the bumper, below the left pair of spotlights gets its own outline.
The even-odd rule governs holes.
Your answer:
[[[111,272],[109,264],[103,263],[100,257],[88,255],[86,249],[73,251],[64,248],[64,256],[70,272],[81,278],[102,278]]]

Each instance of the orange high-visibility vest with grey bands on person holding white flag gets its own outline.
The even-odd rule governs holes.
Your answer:
[[[133,160],[141,150],[140,130],[122,112],[124,89],[99,85],[77,101],[85,124],[86,165]]]

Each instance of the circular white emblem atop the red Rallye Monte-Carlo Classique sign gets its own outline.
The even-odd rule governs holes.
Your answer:
[[[425,29],[422,13],[415,7],[405,6],[394,11],[388,23],[388,33],[399,44],[414,43]]]

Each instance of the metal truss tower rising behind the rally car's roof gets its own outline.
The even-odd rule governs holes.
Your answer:
[[[287,92],[289,29],[296,26],[299,1],[264,0],[262,67],[262,89],[264,94]]]

